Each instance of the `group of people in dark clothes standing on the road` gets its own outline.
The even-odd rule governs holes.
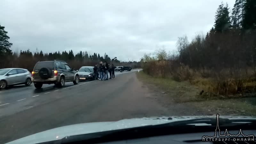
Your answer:
[[[99,74],[99,72],[100,74]],[[114,64],[110,65],[108,64],[108,62],[100,62],[100,66],[99,68],[97,67],[97,64],[95,64],[94,68],[93,68],[93,73],[96,77],[96,79],[100,79],[100,80],[108,80],[108,72],[110,75],[109,79],[115,78],[115,66]],[[100,75],[100,76],[99,76]]]

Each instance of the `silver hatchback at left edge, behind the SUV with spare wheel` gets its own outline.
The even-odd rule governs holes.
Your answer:
[[[23,68],[0,69],[0,89],[18,84],[31,84],[31,73]]]

